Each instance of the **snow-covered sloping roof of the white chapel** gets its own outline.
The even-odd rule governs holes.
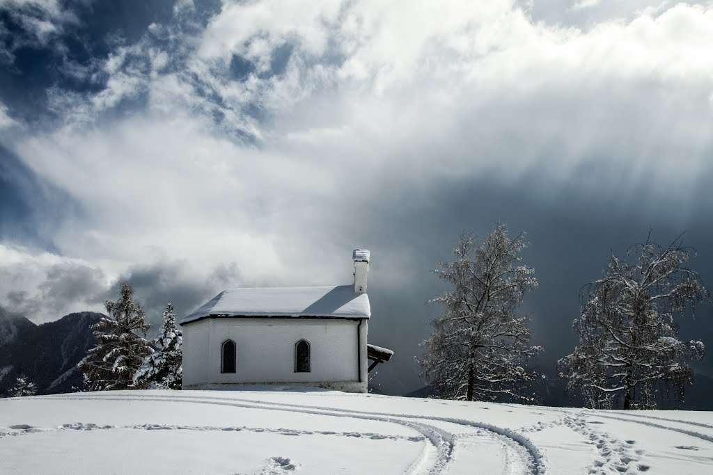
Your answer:
[[[222,291],[180,324],[206,317],[369,318],[366,293],[354,286],[261,287]]]

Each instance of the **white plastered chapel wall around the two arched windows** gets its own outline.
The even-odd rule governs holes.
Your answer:
[[[361,383],[356,356],[358,321],[210,318],[183,327],[184,338],[189,342],[188,352],[184,353],[184,387],[190,389],[206,385],[284,384],[366,392],[368,321],[361,321]],[[201,325],[196,329],[195,335],[194,325]],[[205,346],[202,346],[204,350],[200,354],[201,350],[193,343],[198,340],[205,341],[206,333],[210,333],[210,341],[205,342]],[[222,342],[227,339],[236,343],[235,373],[220,372],[220,348]],[[310,345],[310,372],[294,372],[294,345],[301,339],[307,340]],[[202,367],[205,369],[202,370]]]

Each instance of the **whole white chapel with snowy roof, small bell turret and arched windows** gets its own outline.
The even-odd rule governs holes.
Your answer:
[[[369,251],[354,249],[354,283],[235,288],[180,320],[183,389],[300,385],[366,392],[391,350],[366,343]],[[369,361],[371,364],[369,365]]]

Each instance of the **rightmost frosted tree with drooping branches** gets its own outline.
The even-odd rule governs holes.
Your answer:
[[[705,348],[679,340],[675,320],[710,301],[688,267],[693,256],[682,236],[662,247],[649,234],[627,259],[612,255],[602,278],[583,288],[582,314],[573,324],[580,344],[558,367],[588,407],[653,409],[671,396],[683,402],[693,382],[689,362],[702,360]]]

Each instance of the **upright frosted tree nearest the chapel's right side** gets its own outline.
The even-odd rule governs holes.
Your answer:
[[[527,246],[524,234],[510,239],[498,222],[481,246],[472,234],[458,236],[453,262],[435,271],[451,288],[431,299],[445,312],[431,323],[419,363],[440,397],[522,397],[517,388],[532,376],[523,365],[542,350],[530,345],[528,317],[515,315],[525,292],[538,285],[534,269],[519,264]]]

